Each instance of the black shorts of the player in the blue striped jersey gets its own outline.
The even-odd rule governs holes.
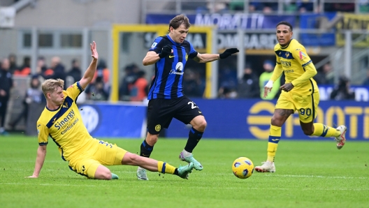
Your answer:
[[[200,108],[186,96],[152,99],[147,108],[147,131],[154,135],[159,134],[162,128],[168,128],[173,118],[189,124],[199,115],[203,115]]]

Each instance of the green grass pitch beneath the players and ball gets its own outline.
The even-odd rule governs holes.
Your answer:
[[[105,139],[136,153],[142,140]],[[266,141],[203,139],[194,156],[204,166],[188,180],[149,172],[136,179],[136,167],[110,166],[120,179],[99,181],[72,172],[49,140],[38,179],[37,138],[0,137],[0,207],[369,207],[369,142],[287,141],[278,147],[275,173],[254,172],[238,179],[232,162],[266,159]],[[159,139],[152,158],[178,167],[186,140]]]

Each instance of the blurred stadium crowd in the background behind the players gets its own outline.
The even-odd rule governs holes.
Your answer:
[[[245,11],[245,1],[228,0],[228,1],[201,1],[201,3],[184,3],[183,10],[194,10],[196,13],[228,13],[229,11]],[[297,13],[319,13],[321,12],[320,1],[314,0],[282,0],[282,10]],[[327,1],[328,2],[328,1]],[[359,12],[369,12],[369,1],[359,1]],[[355,12],[357,6],[355,3],[345,1],[344,3],[328,2],[324,3],[324,12],[342,11]],[[280,5],[275,1],[249,1],[247,6],[249,13],[275,13],[280,10]],[[8,130],[13,130],[19,122],[27,120],[30,103],[38,103],[45,105],[45,98],[41,91],[41,83],[45,79],[62,79],[66,82],[66,87],[80,80],[85,69],[80,68],[78,59],[73,59],[68,66],[61,63],[59,57],[52,57],[45,60],[44,57],[38,57],[36,64],[36,73],[31,73],[31,58],[24,57],[22,61],[17,60],[16,54],[9,54],[8,57],[0,60],[0,134],[6,134],[5,126]],[[50,63],[47,65],[46,63]],[[253,66],[251,62],[245,63],[243,76],[237,77],[235,64],[221,64],[218,75],[218,98],[263,98],[263,86],[270,79],[275,60],[266,59],[263,61],[262,68]],[[153,69],[154,70],[154,69]],[[334,68],[330,63],[324,64],[321,68],[317,68],[318,74],[314,80],[318,84],[335,84],[335,89],[331,92],[332,100],[353,100],[354,92],[349,90],[350,80],[346,77],[334,79]],[[147,91],[150,87],[151,78],[147,78],[145,70],[140,68],[140,63],[127,64],[121,68],[124,77],[120,80],[119,98],[120,101],[145,101]],[[92,83],[85,89],[87,101],[109,101],[111,94],[111,72],[106,61],[99,60],[96,74]],[[15,89],[16,83],[14,78],[28,78],[29,86],[22,96],[22,110],[16,116],[6,119],[8,110],[8,102],[12,89]],[[284,77],[280,79],[280,85],[284,83]],[[369,86],[369,69],[367,77],[362,85]],[[201,98],[205,91],[205,73],[202,70],[196,70],[191,66],[187,66],[186,73],[183,77],[184,94],[190,98]],[[266,99],[274,99],[279,96],[280,91],[275,89]],[[6,124],[6,121],[8,123]]]

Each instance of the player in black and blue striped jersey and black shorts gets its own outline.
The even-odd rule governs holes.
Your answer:
[[[189,19],[178,15],[169,22],[169,34],[157,37],[143,59],[143,65],[155,64],[155,76],[150,86],[147,111],[147,137],[140,147],[140,156],[150,157],[154,144],[159,138],[161,129],[168,128],[173,118],[184,124],[191,124],[189,138],[180,160],[194,163],[196,170],[203,170],[196,161],[192,151],[201,140],[206,121],[200,108],[183,94],[184,66],[188,59],[198,63],[206,63],[218,59],[226,59],[236,52],[237,48],[229,48],[222,54],[200,54],[187,40]],[[147,180],[146,170],[138,168],[137,178]]]

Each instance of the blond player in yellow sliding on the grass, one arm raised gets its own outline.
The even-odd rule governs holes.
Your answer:
[[[38,149],[34,174],[37,178],[45,161],[48,137],[59,147],[61,158],[68,161],[69,168],[92,179],[117,179],[104,165],[135,165],[152,172],[176,174],[187,179],[194,167],[193,163],[175,168],[168,163],[145,158],[89,135],[75,100],[91,82],[96,72],[99,54],[96,43],[91,44],[92,62],[85,75],[68,89],[63,90],[64,80],[45,80],[42,84],[46,107],[37,121]]]

